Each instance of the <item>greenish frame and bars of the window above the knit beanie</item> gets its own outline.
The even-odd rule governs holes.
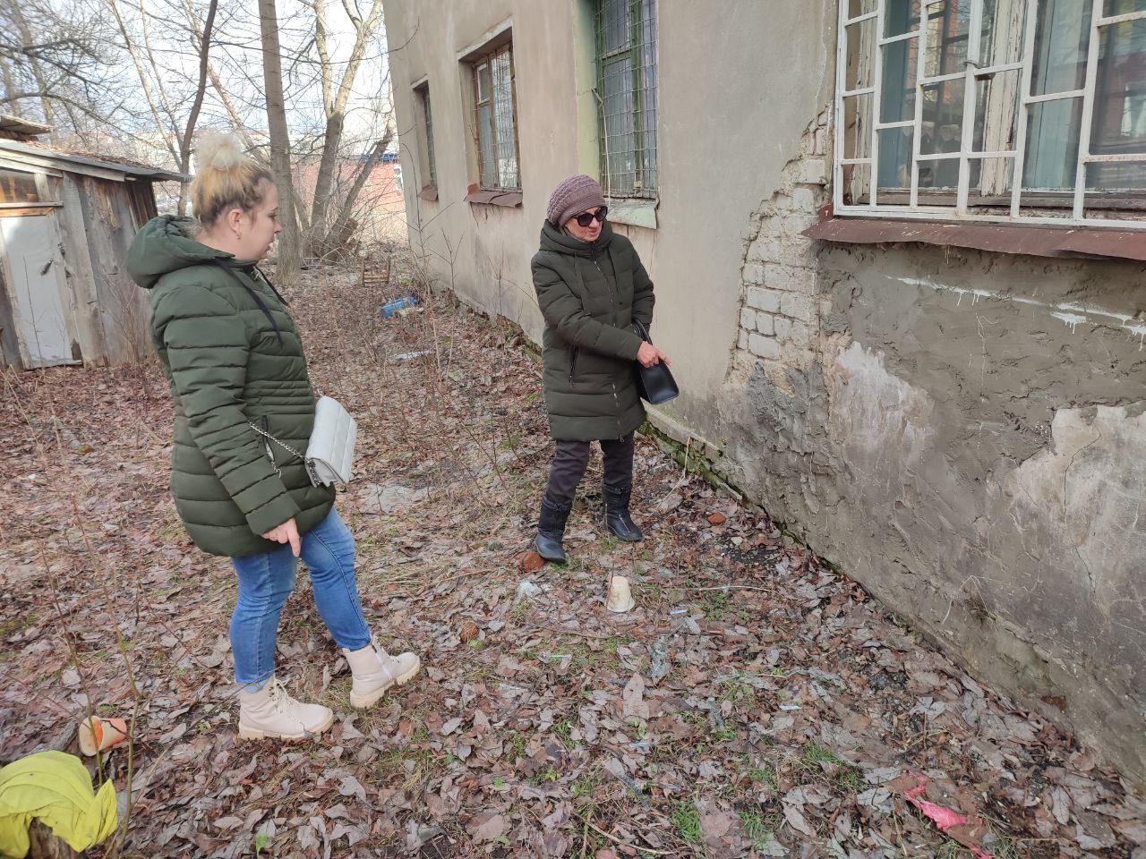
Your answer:
[[[613,50],[606,49],[605,44],[605,26],[604,26],[604,15],[605,5],[607,2],[617,2],[628,7],[629,17],[629,38],[626,47],[617,48]],[[651,34],[650,41],[651,46],[646,46],[644,38],[644,30],[646,26],[646,19],[644,15],[645,6],[647,6],[649,18],[647,27]],[[659,87],[659,38],[658,38],[658,6],[657,0],[595,0],[592,5],[592,16],[594,16],[594,66],[596,72],[596,98],[597,98],[597,131],[599,143],[599,158],[601,158],[601,184],[605,189],[605,196],[611,199],[631,199],[638,200],[657,200],[660,197],[660,134],[659,134],[659,118],[660,111],[658,110],[658,93]],[[643,52],[645,48],[652,53],[652,61],[649,66],[643,62]],[[625,55],[629,56],[629,66],[631,76],[631,96],[633,96],[633,109],[629,111],[633,124],[633,176],[634,186],[629,189],[618,190],[613,188],[613,173],[610,170],[610,151],[609,151],[609,117],[605,112],[605,65],[609,61],[617,60]],[[653,82],[649,84],[645,77],[649,70],[652,69]],[[647,108],[644,104],[643,96],[652,90],[652,107]],[[652,115],[652,131],[653,131],[653,148],[650,150],[645,145],[645,132],[647,131],[647,123],[644,120],[646,113]],[[623,116],[623,111],[618,113],[618,116]],[[651,159],[649,159],[649,153],[651,152]],[[615,157],[615,153],[613,153]],[[650,164],[651,160],[651,164]],[[627,172],[627,171],[626,171]],[[651,187],[646,183],[650,175],[653,176]]]

